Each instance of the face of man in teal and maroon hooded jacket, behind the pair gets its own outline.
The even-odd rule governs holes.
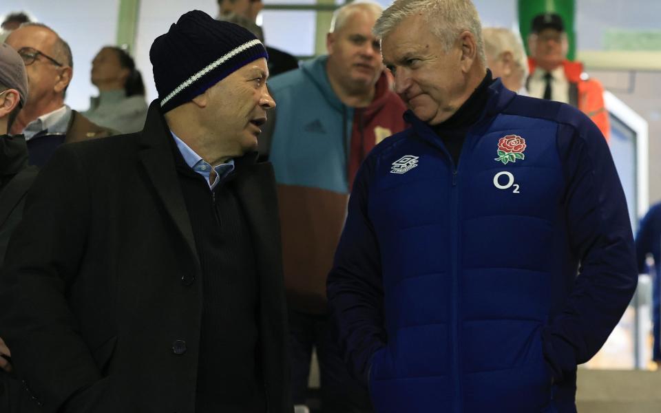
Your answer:
[[[347,90],[374,87],[384,69],[379,41],[372,34],[375,22],[373,14],[356,11],[342,28],[328,34],[327,70]]]

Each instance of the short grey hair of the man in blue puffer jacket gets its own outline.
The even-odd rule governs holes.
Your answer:
[[[402,21],[415,14],[423,16],[432,34],[443,44],[445,52],[450,51],[459,34],[470,32],[475,37],[479,59],[486,64],[482,23],[470,0],[395,0],[381,14],[373,32],[383,39]]]

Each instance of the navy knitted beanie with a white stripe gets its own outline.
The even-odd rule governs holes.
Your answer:
[[[268,59],[264,45],[248,30],[200,10],[187,12],[149,50],[162,113],[262,57]]]

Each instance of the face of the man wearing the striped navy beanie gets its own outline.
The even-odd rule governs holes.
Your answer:
[[[238,157],[257,150],[260,126],[266,122],[266,111],[275,107],[266,78],[266,59],[248,63],[204,92],[206,105],[202,123],[209,137],[222,153]]]

